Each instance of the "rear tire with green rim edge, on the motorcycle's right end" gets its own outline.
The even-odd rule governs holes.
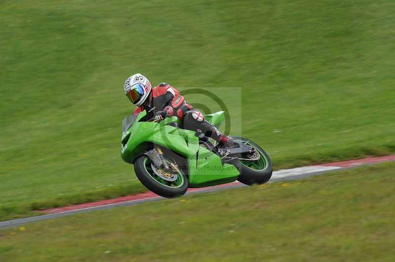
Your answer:
[[[240,172],[237,181],[249,186],[268,182],[273,173],[273,164],[268,154],[258,144],[247,138],[241,136],[232,137],[237,142],[252,146],[260,155],[260,159],[254,162],[237,160],[233,163]]]

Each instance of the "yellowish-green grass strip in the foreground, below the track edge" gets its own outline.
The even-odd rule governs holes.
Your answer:
[[[380,164],[4,229],[0,260],[391,262],[394,168]]]

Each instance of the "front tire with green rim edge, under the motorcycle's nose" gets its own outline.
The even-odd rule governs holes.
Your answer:
[[[166,159],[166,161],[169,161]],[[134,171],[140,182],[149,190],[161,197],[180,197],[187,192],[188,179],[181,169],[177,174],[177,180],[169,182],[155,174],[152,169],[152,161],[146,155],[142,155],[134,162]]]

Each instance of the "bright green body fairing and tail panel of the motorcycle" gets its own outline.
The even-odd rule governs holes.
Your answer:
[[[166,118],[158,123],[138,122],[146,115],[141,112],[134,124],[122,139],[121,158],[129,164],[144,154],[151,143],[166,147],[187,159],[189,187],[213,186],[237,179],[239,172],[234,165],[222,164],[218,155],[199,146],[195,131],[177,129],[168,126],[171,122],[180,123],[177,117]],[[205,119],[215,126],[219,126],[225,119],[224,112],[217,112],[205,116]]]

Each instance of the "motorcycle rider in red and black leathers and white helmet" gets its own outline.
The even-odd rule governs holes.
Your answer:
[[[174,87],[161,83],[152,88],[150,81],[137,73],[126,79],[123,89],[126,97],[137,106],[133,114],[147,111],[142,121],[177,116],[183,123],[184,129],[201,132],[213,138],[223,148],[232,145],[233,138],[222,134],[215,126],[208,123],[203,114],[188,104]]]

